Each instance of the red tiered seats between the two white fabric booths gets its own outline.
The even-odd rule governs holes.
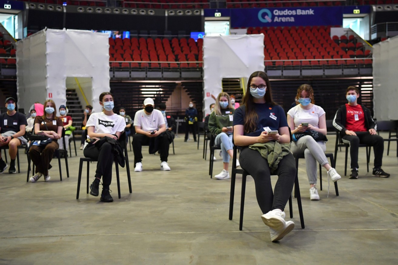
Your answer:
[[[111,67],[129,67],[129,62],[135,61],[133,68],[178,68],[179,64],[181,68],[198,68],[202,67],[197,64],[203,60],[202,46],[203,39],[109,38],[109,61]]]

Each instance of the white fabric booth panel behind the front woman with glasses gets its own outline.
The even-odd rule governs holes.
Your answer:
[[[203,38],[203,110],[222,92],[222,78],[249,77],[264,71],[264,35],[205,36]]]

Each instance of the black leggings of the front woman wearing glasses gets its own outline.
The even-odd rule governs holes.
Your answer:
[[[278,168],[273,174],[278,175],[275,190],[272,193],[271,172],[266,159],[259,151],[248,147],[243,148],[239,155],[240,166],[253,177],[256,185],[258,205],[263,213],[274,209],[285,209],[292,194],[296,177],[296,162],[291,153],[279,161]]]

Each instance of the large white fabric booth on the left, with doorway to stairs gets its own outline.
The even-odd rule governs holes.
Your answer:
[[[109,44],[106,33],[43,29],[17,44],[18,108],[53,99],[57,108],[66,104],[66,79],[90,78],[84,93],[94,111],[98,98],[109,92]]]

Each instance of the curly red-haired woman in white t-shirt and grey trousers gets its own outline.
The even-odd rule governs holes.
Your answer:
[[[312,87],[308,84],[300,85],[297,89],[296,99],[299,104],[287,112],[287,124],[292,134],[314,130],[326,135],[325,111],[314,104]],[[308,123],[308,126],[303,126],[302,123]],[[316,188],[318,163],[328,170],[328,176],[333,182],[341,178],[336,169],[330,166],[325,156],[326,144],[324,141],[315,141],[311,135],[302,136],[296,142],[291,143],[290,151],[293,155],[304,153],[311,200],[320,199]]]

